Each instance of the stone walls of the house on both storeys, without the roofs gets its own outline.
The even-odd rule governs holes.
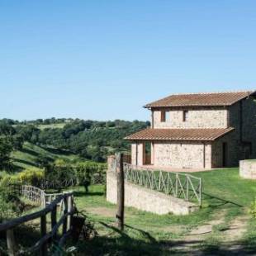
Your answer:
[[[153,108],[154,129],[213,129],[234,127],[235,130],[214,141],[150,141],[151,164],[173,168],[220,168],[239,165],[241,159],[256,158],[256,102],[244,98],[230,107]],[[161,111],[168,111],[161,121]],[[183,111],[187,119],[183,121]],[[145,164],[145,142],[132,143],[132,164]]]

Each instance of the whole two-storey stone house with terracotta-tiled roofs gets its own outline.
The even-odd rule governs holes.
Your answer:
[[[126,137],[131,163],[170,168],[238,166],[256,158],[256,92],[178,94],[149,103],[151,127]]]

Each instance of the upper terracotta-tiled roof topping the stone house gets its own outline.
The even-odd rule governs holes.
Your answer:
[[[255,95],[255,91],[173,94],[159,101],[149,103],[145,107],[230,106],[250,95]]]

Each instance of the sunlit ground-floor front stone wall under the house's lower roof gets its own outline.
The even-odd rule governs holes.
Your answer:
[[[173,168],[211,168],[211,144],[155,142],[154,165]]]

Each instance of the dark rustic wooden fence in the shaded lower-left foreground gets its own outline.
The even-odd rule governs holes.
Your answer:
[[[26,191],[26,189],[24,189],[24,191]],[[30,194],[31,190],[28,191],[30,191],[28,193]],[[38,198],[39,192],[39,190],[32,192],[32,197]],[[57,208],[61,201],[63,201],[63,211],[60,211],[59,220],[57,220]],[[48,206],[45,206],[43,210],[0,224],[0,233],[6,232],[7,234],[8,255],[28,255],[39,252],[41,256],[45,256],[49,254],[50,245],[53,244],[53,242],[61,247],[64,244],[65,239],[67,239],[71,234],[71,220],[74,212],[75,206],[73,202],[73,192],[66,192],[59,197],[56,197],[55,200]],[[50,218],[46,223],[46,217],[48,214],[50,215]],[[37,219],[40,220],[40,239],[36,244],[31,246],[31,248],[26,249],[26,251],[19,250],[15,239],[15,228],[19,225],[26,224],[28,221]],[[50,229],[47,229],[47,225],[50,225]],[[58,235],[61,226],[62,231],[60,232],[60,235]]]

